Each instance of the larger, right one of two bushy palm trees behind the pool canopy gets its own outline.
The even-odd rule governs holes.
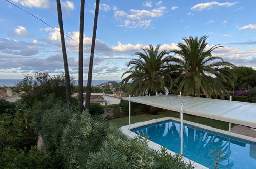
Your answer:
[[[235,75],[228,69],[221,68],[234,65],[225,62],[221,57],[212,56],[213,50],[223,46],[218,44],[207,49],[207,38],[208,36],[182,38],[185,44],[178,43],[180,49],[170,51],[175,56],[169,56],[168,62],[176,68],[178,77],[175,82],[178,91],[182,91],[183,95],[199,97],[203,93],[208,98],[218,95],[224,98],[229,94],[215,77],[232,83],[232,77]]]

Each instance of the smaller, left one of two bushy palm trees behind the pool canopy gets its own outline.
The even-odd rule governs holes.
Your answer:
[[[142,52],[136,52],[135,55],[139,59],[132,59],[128,63],[130,69],[126,71],[122,77],[129,74],[122,80],[122,83],[128,83],[132,80],[128,87],[128,92],[133,95],[155,95],[157,91],[166,91],[171,88],[171,76],[166,73],[166,50],[160,51],[160,45],[156,48],[150,45],[149,48],[142,49]],[[166,87],[166,88],[165,88]]]

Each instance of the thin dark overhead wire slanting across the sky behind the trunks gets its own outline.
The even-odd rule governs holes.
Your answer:
[[[21,8],[21,7],[17,6],[17,5],[15,5],[15,4],[13,4],[13,3],[12,3],[12,2],[10,2],[9,0],[5,0],[5,1],[7,1],[8,3],[10,3],[10,4],[12,4],[13,6],[17,7],[18,9],[21,9],[22,11],[26,12],[27,14],[29,14],[29,15],[33,16],[34,18],[36,18],[36,19],[40,20],[42,23],[46,24],[47,26],[51,27],[52,29],[54,29],[54,30],[56,30],[56,31],[60,32],[60,30],[58,30],[58,29],[54,28],[53,26],[51,26],[50,24],[48,24],[48,23],[47,23],[47,22],[45,22],[44,20],[42,20],[42,19],[38,18],[37,16],[35,16],[35,15],[33,15],[32,13],[30,13],[30,12],[26,11],[25,9],[23,9],[23,8]],[[61,32],[60,32],[60,33],[61,33]],[[79,41],[77,41],[77,40],[73,39],[72,37],[70,37],[70,36],[66,35],[65,33],[63,33],[63,35],[64,35],[64,36],[66,36],[66,37],[68,37],[69,39],[71,39],[71,40],[75,41],[77,44],[79,44]],[[83,46],[84,46],[86,49],[91,50],[90,48],[88,48],[88,47],[87,47],[87,46],[85,46],[84,44],[83,44]],[[94,53],[95,53],[96,55],[98,55],[98,56],[100,56],[100,57],[102,57],[102,58],[106,59],[107,61],[111,62],[113,65],[115,65],[115,66],[117,66],[117,67],[119,67],[119,68],[121,68],[121,69],[124,69],[124,68],[120,67],[119,65],[116,65],[114,62],[112,62],[112,61],[111,61],[111,60],[109,60],[108,58],[105,58],[104,56],[100,55],[99,53],[97,53],[97,52],[94,52]]]

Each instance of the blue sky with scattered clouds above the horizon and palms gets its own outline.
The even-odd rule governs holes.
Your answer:
[[[58,30],[56,1],[9,0]],[[69,72],[78,79],[80,1],[61,1]],[[224,61],[256,69],[256,1],[101,0],[93,80],[120,80],[135,52],[148,45],[178,49],[183,37],[209,36]],[[87,79],[95,1],[85,1],[84,79]],[[0,0],[0,79],[64,72],[60,33]]]

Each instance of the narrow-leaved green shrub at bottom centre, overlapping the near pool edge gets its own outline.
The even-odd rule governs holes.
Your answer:
[[[160,153],[147,146],[147,138],[128,140],[123,134],[110,128],[100,151],[90,153],[87,168],[193,168],[181,160],[180,155],[169,155],[166,149]]]

